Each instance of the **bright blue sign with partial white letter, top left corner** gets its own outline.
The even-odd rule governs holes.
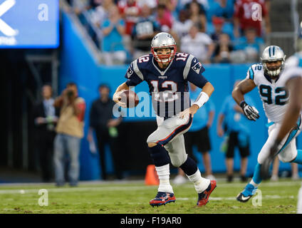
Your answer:
[[[0,48],[58,45],[58,0],[0,0]]]

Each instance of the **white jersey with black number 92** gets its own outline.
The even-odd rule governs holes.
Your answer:
[[[253,80],[256,84],[269,122],[281,122],[286,112],[289,95],[285,87],[286,78],[283,77],[283,71],[279,78],[274,81],[264,74],[262,64],[257,63],[249,68],[246,78]]]

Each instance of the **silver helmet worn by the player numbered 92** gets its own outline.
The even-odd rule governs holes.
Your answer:
[[[261,56],[261,63],[264,66],[264,73],[268,74],[271,78],[276,78],[285,66],[284,52],[278,46],[268,46],[264,49]],[[267,66],[269,62],[281,61],[281,65]]]

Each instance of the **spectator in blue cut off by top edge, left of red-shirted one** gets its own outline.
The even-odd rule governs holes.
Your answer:
[[[213,16],[221,17],[224,21],[233,22],[234,0],[216,0],[213,2],[207,14],[207,20],[211,21]]]

